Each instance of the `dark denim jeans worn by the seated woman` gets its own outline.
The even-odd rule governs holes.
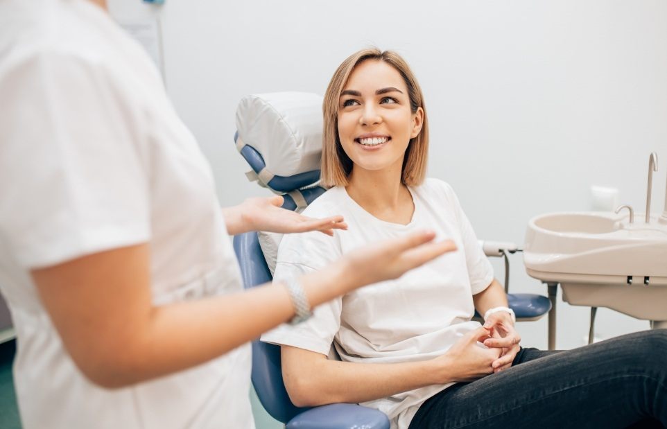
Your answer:
[[[428,399],[410,429],[667,427],[667,330],[567,351],[521,349],[510,369]]]

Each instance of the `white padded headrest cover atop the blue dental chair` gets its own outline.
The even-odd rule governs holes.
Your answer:
[[[306,92],[246,96],[236,109],[243,144],[264,159],[266,169],[292,176],[320,169],[322,97]]]

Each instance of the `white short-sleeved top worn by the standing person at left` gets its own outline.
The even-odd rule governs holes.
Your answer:
[[[210,167],[148,55],[89,1],[3,0],[0,100],[0,287],[24,428],[253,428],[248,345],[103,389],[29,275],[148,243],[155,304],[241,290]]]

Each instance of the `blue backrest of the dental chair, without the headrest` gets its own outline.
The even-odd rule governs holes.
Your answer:
[[[239,259],[244,288],[254,288],[271,281],[257,232],[234,236],[234,252]],[[297,408],[289,399],[280,368],[280,347],[259,339],[252,342],[252,385],[261,405],[277,421],[287,423],[295,415],[308,410]]]

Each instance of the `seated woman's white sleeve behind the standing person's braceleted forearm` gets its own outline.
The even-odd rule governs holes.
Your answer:
[[[313,216],[309,214],[308,216]],[[315,215],[318,216],[318,215]],[[340,257],[336,237],[318,232],[288,234],[278,251],[273,281],[298,279]],[[282,324],[261,336],[263,342],[287,345],[329,355],[333,338],[340,329],[343,299],[337,297],[313,309],[313,316],[297,325]]]

